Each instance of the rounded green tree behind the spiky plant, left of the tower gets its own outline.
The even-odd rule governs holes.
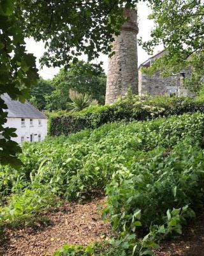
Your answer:
[[[88,93],[100,104],[105,102],[106,75],[100,65],[85,63],[71,63],[68,70],[62,68],[52,80],[54,91],[47,95],[46,108],[48,110],[67,109],[69,89],[79,93]]]

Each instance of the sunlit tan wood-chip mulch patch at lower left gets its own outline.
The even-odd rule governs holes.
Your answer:
[[[98,205],[104,202],[99,198],[85,204],[64,204],[58,212],[48,214],[51,225],[47,227],[6,229],[6,243],[0,244],[0,255],[52,255],[65,244],[85,246],[108,239],[110,224],[101,220],[98,211]]]

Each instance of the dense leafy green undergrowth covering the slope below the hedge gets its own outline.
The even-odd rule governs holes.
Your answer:
[[[21,170],[0,173],[0,223],[21,225],[57,198],[105,189],[103,218],[119,232],[112,247],[102,254],[67,247],[56,255],[153,255],[155,241],[181,234],[203,205],[203,134],[204,115],[194,113],[24,144]]]

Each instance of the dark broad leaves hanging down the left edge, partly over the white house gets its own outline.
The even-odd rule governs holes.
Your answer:
[[[29,97],[29,87],[38,77],[35,58],[25,52],[24,36],[20,20],[15,12],[14,0],[0,2],[0,97],[8,93],[11,99],[25,102]],[[4,128],[6,123],[6,106],[0,99],[0,163],[20,166],[16,154],[20,152],[13,129]],[[4,109],[4,110],[3,110]]]

